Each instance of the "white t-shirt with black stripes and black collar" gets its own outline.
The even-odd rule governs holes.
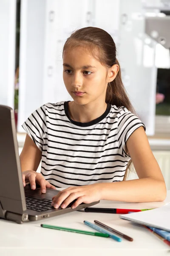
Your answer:
[[[125,107],[109,105],[91,122],[76,122],[68,102],[47,103],[23,128],[42,151],[41,173],[56,187],[122,181],[130,155],[126,141],[144,124]]]

